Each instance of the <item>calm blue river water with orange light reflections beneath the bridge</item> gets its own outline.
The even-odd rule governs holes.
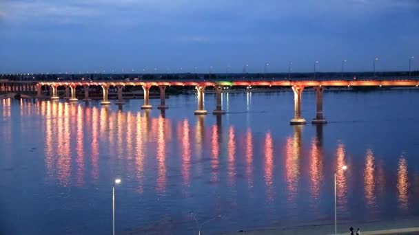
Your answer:
[[[0,100],[0,234],[110,234],[118,177],[117,233],[331,224],[335,172],[338,222],[419,216],[417,89],[326,92],[324,126],[289,125],[291,92],[142,102]]]

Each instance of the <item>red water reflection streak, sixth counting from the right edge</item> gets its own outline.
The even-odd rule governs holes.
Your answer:
[[[273,199],[274,192],[272,192],[273,172],[274,172],[274,143],[271,133],[266,133],[265,136],[265,183],[267,186],[267,197]]]

